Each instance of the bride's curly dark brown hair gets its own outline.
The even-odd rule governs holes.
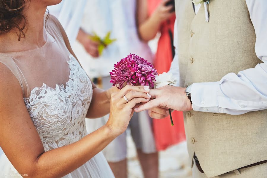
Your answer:
[[[18,41],[20,41],[20,38],[25,38],[28,25],[27,18],[23,14],[25,7],[26,0],[0,0],[0,35],[17,28]],[[49,12],[45,23],[48,16]]]

